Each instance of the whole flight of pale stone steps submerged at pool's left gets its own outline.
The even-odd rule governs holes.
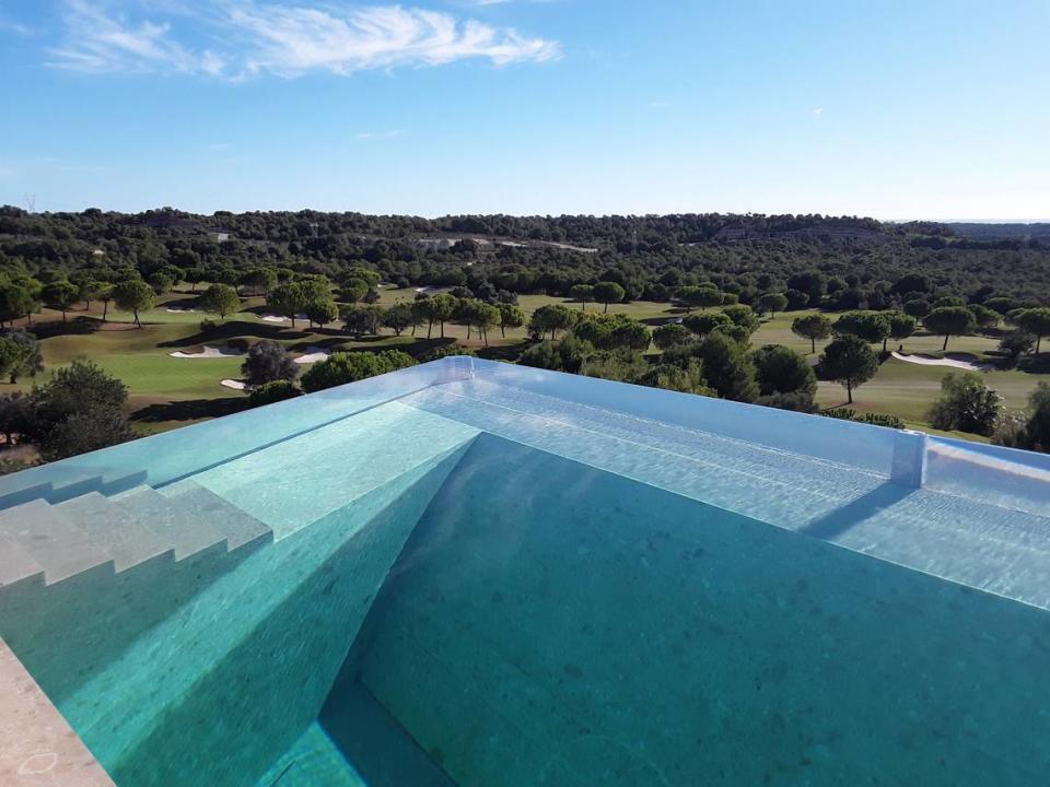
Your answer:
[[[92,569],[120,573],[272,540],[269,527],[192,481],[120,491],[127,483],[48,484],[39,497],[0,510],[0,594],[18,583],[54,585]]]

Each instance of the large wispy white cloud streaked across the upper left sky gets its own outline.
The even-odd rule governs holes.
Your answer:
[[[244,79],[315,71],[347,75],[465,59],[505,66],[561,55],[555,40],[400,5],[206,0],[187,7],[177,0],[139,0],[131,9],[138,12],[133,16],[106,0],[63,0],[65,39],[50,49],[51,64]],[[192,46],[187,35],[221,44]]]

